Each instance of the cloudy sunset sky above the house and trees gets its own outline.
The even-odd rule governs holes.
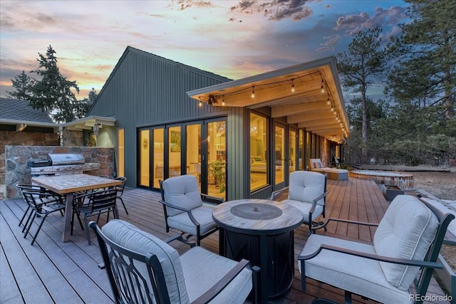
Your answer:
[[[80,88],[103,88],[127,46],[231,79],[347,51],[359,31],[400,33],[399,0],[0,1],[0,97],[52,46]],[[34,76],[35,74],[28,74]],[[381,97],[382,85],[369,89]],[[345,97],[350,98],[350,96]],[[375,97],[373,98],[375,100]]]

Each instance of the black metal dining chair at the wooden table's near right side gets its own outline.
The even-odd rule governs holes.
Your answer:
[[[82,214],[84,219],[84,224],[86,226],[86,234],[87,234],[87,241],[90,245],[90,233],[88,229],[88,217],[89,216],[97,216],[97,223],[98,219],[100,219],[100,215],[107,213],[109,214],[110,211],[113,211],[114,218],[119,218],[119,213],[117,209],[117,189],[108,189],[108,190],[101,190],[96,192],[88,192],[86,194],[82,194],[80,196],[75,196],[73,200],[73,216],[71,219],[71,234],[73,234],[73,226],[74,226],[74,216],[78,217],[79,224],[81,225],[81,229],[84,230],[83,224],[81,223]],[[109,219],[109,218],[108,218]],[[106,221],[108,221],[106,219]]]

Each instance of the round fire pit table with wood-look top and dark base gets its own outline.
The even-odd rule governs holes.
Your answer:
[[[245,258],[261,268],[259,298],[289,290],[294,276],[294,229],[304,221],[301,211],[279,201],[239,199],[219,204],[212,211],[220,226],[220,255]]]

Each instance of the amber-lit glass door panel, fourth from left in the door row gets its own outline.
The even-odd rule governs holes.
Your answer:
[[[190,170],[190,174],[197,177],[199,191],[201,191],[201,124],[187,125],[185,130],[187,167]]]

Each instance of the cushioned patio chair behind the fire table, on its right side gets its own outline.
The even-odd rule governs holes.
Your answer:
[[[311,234],[320,224],[314,222],[316,217],[320,214],[325,217],[326,194],[328,194],[326,179],[326,174],[318,172],[291,172],[289,187],[273,192],[270,199],[274,201],[281,192],[288,190],[288,198],[281,202],[294,206],[302,212],[304,223],[309,225],[309,234]]]

